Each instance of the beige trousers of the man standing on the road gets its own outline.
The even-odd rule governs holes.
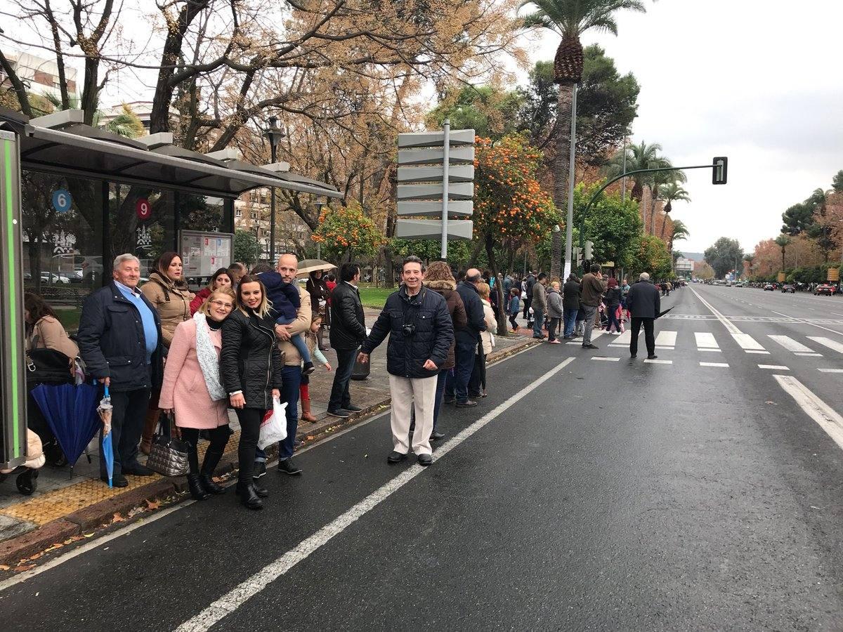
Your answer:
[[[392,394],[392,445],[395,452],[410,452],[411,410],[416,411],[416,430],[413,431],[413,452],[431,454],[430,434],[433,431],[433,404],[436,400],[436,379],[400,378],[389,375]]]

